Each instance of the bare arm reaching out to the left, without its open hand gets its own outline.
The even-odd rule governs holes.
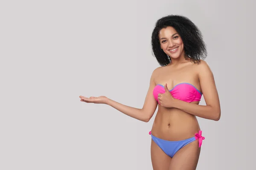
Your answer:
[[[151,119],[151,117],[154,115],[154,112],[156,111],[156,108],[157,108],[157,101],[154,99],[154,96],[153,96],[154,87],[155,87],[155,82],[154,82],[154,72],[153,72],[150,78],[148,93],[146,95],[145,102],[142,109],[123,105],[111,99],[107,99],[106,104],[126,114],[127,116],[133,117],[143,122],[148,122]]]

